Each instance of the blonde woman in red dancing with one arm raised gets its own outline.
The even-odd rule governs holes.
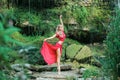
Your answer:
[[[57,63],[58,74],[60,74],[60,58],[62,54],[62,44],[66,38],[66,35],[64,33],[62,15],[60,15],[60,23],[61,24],[59,24],[56,28],[56,33],[53,36],[44,39],[42,48],[40,50],[47,64],[50,65],[53,63]],[[47,40],[53,39],[55,37],[59,39],[59,41],[55,45],[47,42]]]

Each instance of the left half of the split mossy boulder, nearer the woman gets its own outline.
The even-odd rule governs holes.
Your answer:
[[[74,58],[77,52],[82,48],[82,45],[71,44],[66,48],[67,58]]]

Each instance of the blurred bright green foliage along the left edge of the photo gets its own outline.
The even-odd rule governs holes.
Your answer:
[[[10,61],[15,55],[9,54],[12,52],[12,45],[23,45],[21,42],[12,38],[12,33],[19,31],[19,29],[13,27],[13,25],[9,24],[9,20],[12,19],[11,11],[7,10],[3,13],[0,13],[0,79],[8,80],[9,75],[4,73],[5,70],[9,70]],[[8,15],[9,14],[9,15]],[[15,58],[14,58],[15,59]],[[8,72],[9,73],[9,72]]]

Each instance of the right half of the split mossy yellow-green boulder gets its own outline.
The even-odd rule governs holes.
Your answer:
[[[92,52],[88,46],[84,46],[78,54],[75,56],[75,59],[81,60],[92,56]]]

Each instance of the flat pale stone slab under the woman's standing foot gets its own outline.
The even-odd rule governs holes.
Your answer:
[[[74,77],[74,78],[78,78],[81,77],[81,75],[77,74],[76,71],[61,71],[61,74],[58,75],[58,72],[41,72],[41,73],[37,73],[34,74],[33,76],[37,76],[38,78],[47,78],[47,79],[55,79],[55,80],[67,80],[67,78],[69,77]]]

